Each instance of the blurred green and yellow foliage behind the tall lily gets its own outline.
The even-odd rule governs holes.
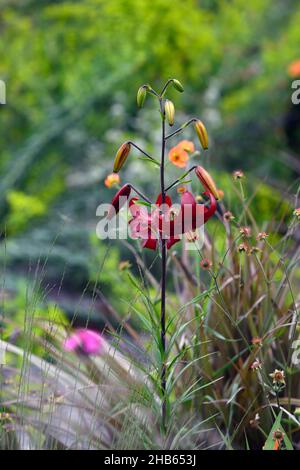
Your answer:
[[[193,116],[205,122],[210,148],[199,159],[228,209],[237,169],[255,191],[260,222],[278,201],[292,209],[300,174],[300,105],[291,102],[299,24],[293,0],[0,0],[5,315],[23,321],[34,305],[38,315],[55,308],[99,325],[111,306],[126,314],[130,289],[120,263],[133,255],[96,238],[96,208],[114,194],[104,180],[120,143],[159,151],[156,103],[148,97],[142,110],[136,106],[143,83],[159,90],[170,77],[182,82],[185,93],[170,92],[176,127]],[[154,195],[157,170],[137,157],[121,183]]]

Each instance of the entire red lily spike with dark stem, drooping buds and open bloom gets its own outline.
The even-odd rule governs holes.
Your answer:
[[[111,219],[119,212],[121,207],[128,202],[131,219],[129,220],[129,227],[133,238],[142,240],[142,247],[150,250],[160,250],[161,255],[161,315],[160,315],[160,337],[161,337],[161,351],[162,351],[162,365],[160,371],[160,388],[162,398],[162,431],[165,433],[167,430],[167,357],[166,357],[166,263],[167,263],[167,250],[169,250],[175,243],[178,243],[183,234],[188,236],[194,233],[197,228],[205,224],[210,217],[213,216],[217,209],[217,199],[219,197],[216,185],[209,175],[209,173],[201,166],[192,166],[183,176],[178,178],[168,187],[165,186],[165,156],[166,156],[166,143],[167,141],[180,134],[187,126],[193,125],[195,133],[200,141],[201,147],[205,150],[208,147],[208,134],[202,121],[197,118],[192,118],[173,133],[166,135],[166,122],[169,126],[173,126],[175,121],[175,107],[173,102],[165,98],[168,87],[172,85],[177,91],[183,92],[181,83],[176,79],[169,79],[163,86],[160,93],[153,90],[150,85],[143,85],[139,88],[137,94],[137,103],[142,107],[146,95],[150,94],[158,100],[159,110],[161,115],[161,156],[158,163],[151,155],[142,150],[133,142],[125,142],[117,151],[114,172],[118,172],[124,165],[131,147],[136,147],[146,159],[151,160],[153,163],[158,164],[160,167],[160,191],[156,199],[156,203],[152,206],[151,214],[145,206],[141,205],[142,199],[149,205],[151,202],[134,186],[127,183],[125,184],[114,196],[111,203],[111,210],[107,217]],[[169,154],[169,158],[175,159],[175,152],[179,153],[182,157],[186,152],[194,152],[194,144],[190,141],[182,141],[174,148],[173,152]],[[183,158],[181,158],[183,160]],[[185,158],[186,160],[186,158]],[[177,166],[180,166],[179,164]],[[182,167],[185,164],[181,165]],[[184,178],[194,172],[201,184],[209,200],[209,206],[203,203],[198,204],[195,197],[190,191],[184,188],[180,191],[180,206],[179,209],[173,210],[172,200],[167,194],[176,185],[183,183]],[[131,192],[135,192],[139,197],[132,197],[130,200]]]

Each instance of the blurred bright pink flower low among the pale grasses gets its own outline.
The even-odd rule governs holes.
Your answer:
[[[81,352],[87,355],[99,354],[102,350],[102,336],[92,330],[78,329],[64,343],[65,351]]]

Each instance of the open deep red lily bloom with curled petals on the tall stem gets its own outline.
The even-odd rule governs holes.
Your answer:
[[[132,198],[129,202],[133,216],[129,222],[132,236],[143,240],[143,248],[155,250],[161,237],[167,240],[167,248],[171,248],[180,241],[183,233],[195,231],[215,213],[217,204],[214,195],[209,191],[204,194],[210,199],[209,207],[197,204],[192,193],[185,191],[181,196],[178,214],[172,211],[169,196],[165,197],[165,204],[162,205],[162,197],[159,195],[156,200],[157,209],[151,214],[148,214],[146,207],[136,204],[138,198]]]

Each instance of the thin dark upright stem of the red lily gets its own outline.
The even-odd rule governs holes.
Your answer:
[[[160,110],[162,115],[162,141],[161,141],[161,162],[160,162],[160,192],[162,198],[162,205],[165,204],[165,148],[166,148],[166,128],[165,128],[165,113],[164,101],[160,99]],[[166,417],[167,417],[167,397],[166,397],[166,265],[167,265],[167,249],[166,239],[161,234],[161,345],[162,345],[162,368],[161,368],[161,393],[162,393],[162,428],[166,431]]]

